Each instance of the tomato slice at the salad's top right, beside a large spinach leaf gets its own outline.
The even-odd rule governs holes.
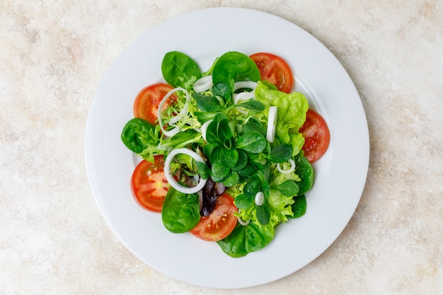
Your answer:
[[[280,91],[286,93],[292,91],[294,76],[284,59],[266,52],[258,52],[250,57],[257,64],[262,80],[274,84]]]

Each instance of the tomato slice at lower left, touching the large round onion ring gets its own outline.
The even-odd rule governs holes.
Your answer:
[[[132,193],[144,209],[161,212],[169,189],[163,166],[163,156],[154,156],[154,163],[143,160],[132,173]]]

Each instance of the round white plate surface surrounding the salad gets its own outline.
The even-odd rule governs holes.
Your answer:
[[[206,71],[215,57],[235,50],[272,52],[287,60],[310,107],[331,133],[314,164],[307,212],[277,228],[263,250],[231,258],[217,243],[169,233],[159,214],[134,201],[130,177],[137,160],[120,133],[137,93],[162,81],[168,51],[185,52]],[[367,120],[343,66],[315,37],[293,23],[245,8],[208,8],[176,16],[144,33],[115,60],[98,86],[86,127],[86,168],[93,195],[110,228],[146,264],[202,287],[241,288],[275,281],[321,255],[340,235],[362,195],[369,163]]]

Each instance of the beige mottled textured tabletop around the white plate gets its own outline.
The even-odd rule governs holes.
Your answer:
[[[0,294],[443,294],[442,1],[83,2],[0,0]],[[241,290],[178,282],[134,257],[84,163],[88,109],[117,54],[214,6],[274,13],[321,40],[355,82],[371,137],[367,185],[335,243]]]

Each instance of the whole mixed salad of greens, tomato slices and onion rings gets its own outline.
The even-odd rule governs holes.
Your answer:
[[[183,52],[167,52],[166,83],[142,89],[122,129],[142,157],[134,198],[161,212],[172,233],[217,242],[237,258],[272,241],[279,224],[304,215],[311,163],[330,134],[275,54],[226,52],[202,71]]]

